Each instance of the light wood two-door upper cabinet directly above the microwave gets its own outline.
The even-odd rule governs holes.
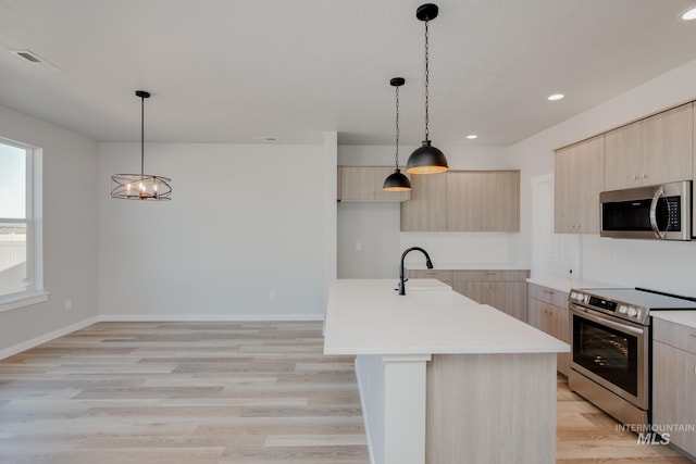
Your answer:
[[[693,103],[606,133],[604,189],[688,180],[693,143]]]

